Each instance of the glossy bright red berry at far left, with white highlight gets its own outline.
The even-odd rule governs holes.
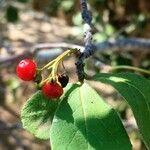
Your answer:
[[[25,81],[31,81],[36,75],[36,64],[31,59],[24,59],[16,67],[16,74]]]

